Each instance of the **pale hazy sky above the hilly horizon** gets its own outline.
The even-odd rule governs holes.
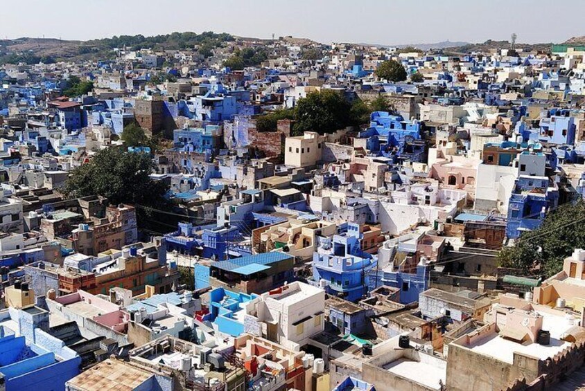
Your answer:
[[[563,42],[585,0],[1,0],[0,37],[92,39],[212,30],[324,43]],[[580,19],[580,20],[579,20]]]

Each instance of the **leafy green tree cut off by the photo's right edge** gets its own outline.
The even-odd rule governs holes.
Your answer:
[[[515,267],[525,273],[540,269],[546,276],[563,268],[563,261],[585,243],[585,202],[564,204],[548,213],[536,230],[524,233],[513,247],[498,254],[501,266]]]

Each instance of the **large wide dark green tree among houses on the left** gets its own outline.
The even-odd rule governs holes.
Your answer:
[[[110,203],[140,204],[161,208],[168,187],[152,181],[154,163],[148,154],[110,147],[97,152],[89,163],[71,171],[65,183],[68,197],[100,195]]]

